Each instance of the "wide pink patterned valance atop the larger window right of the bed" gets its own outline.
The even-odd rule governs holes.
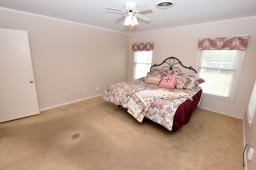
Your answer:
[[[202,38],[198,40],[198,50],[245,50],[249,36]]]

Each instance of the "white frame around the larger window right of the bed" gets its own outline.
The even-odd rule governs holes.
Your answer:
[[[199,70],[199,64],[200,63],[199,63],[199,61],[200,61],[201,51],[202,50],[197,51],[197,57],[196,57],[196,70],[198,72],[198,75],[200,74],[200,70]],[[241,73],[241,70],[242,70],[243,62],[244,62],[245,51],[246,50],[242,50],[241,54],[240,54],[240,59],[239,59],[238,66],[237,66],[237,69],[236,69],[236,76],[234,77],[234,84],[233,84],[233,87],[232,87],[232,92],[230,94],[230,97],[228,98],[228,97],[222,97],[222,96],[213,95],[213,94],[206,94],[206,93],[204,93],[204,91],[203,91],[203,94],[202,94],[203,97],[211,98],[211,99],[215,99],[215,100],[220,100],[220,101],[225,101],[225,102],[230,102],[230,103],[234,102],[234,98],[235,98],[235,95],[236,95],[236,90],[237,90],[237,86],[238,86],[238,82],[239,82],[239,78],[240,78],[240,73]]]

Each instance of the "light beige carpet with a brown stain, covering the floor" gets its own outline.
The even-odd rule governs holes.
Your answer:
[[[0,123],[1,170],[243,170],[242,120],[197,108],[171,132],[101,97]]]

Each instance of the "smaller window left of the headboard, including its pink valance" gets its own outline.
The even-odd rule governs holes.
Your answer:
[[[134,43],[132,51],[134,55],[134,79],[145,77],[152,64],[154,42]]]

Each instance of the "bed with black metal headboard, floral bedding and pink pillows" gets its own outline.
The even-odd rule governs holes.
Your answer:
[[[194,73],[184,73],[181,69]],[[151,66],[145,77],[105,86],[102,100],[126,108],[139,122],[146,117],[169,131],[177,131],[189,122],[200,104],[199,85],[203,82],[196,77],[194,68],[169,57]]]

